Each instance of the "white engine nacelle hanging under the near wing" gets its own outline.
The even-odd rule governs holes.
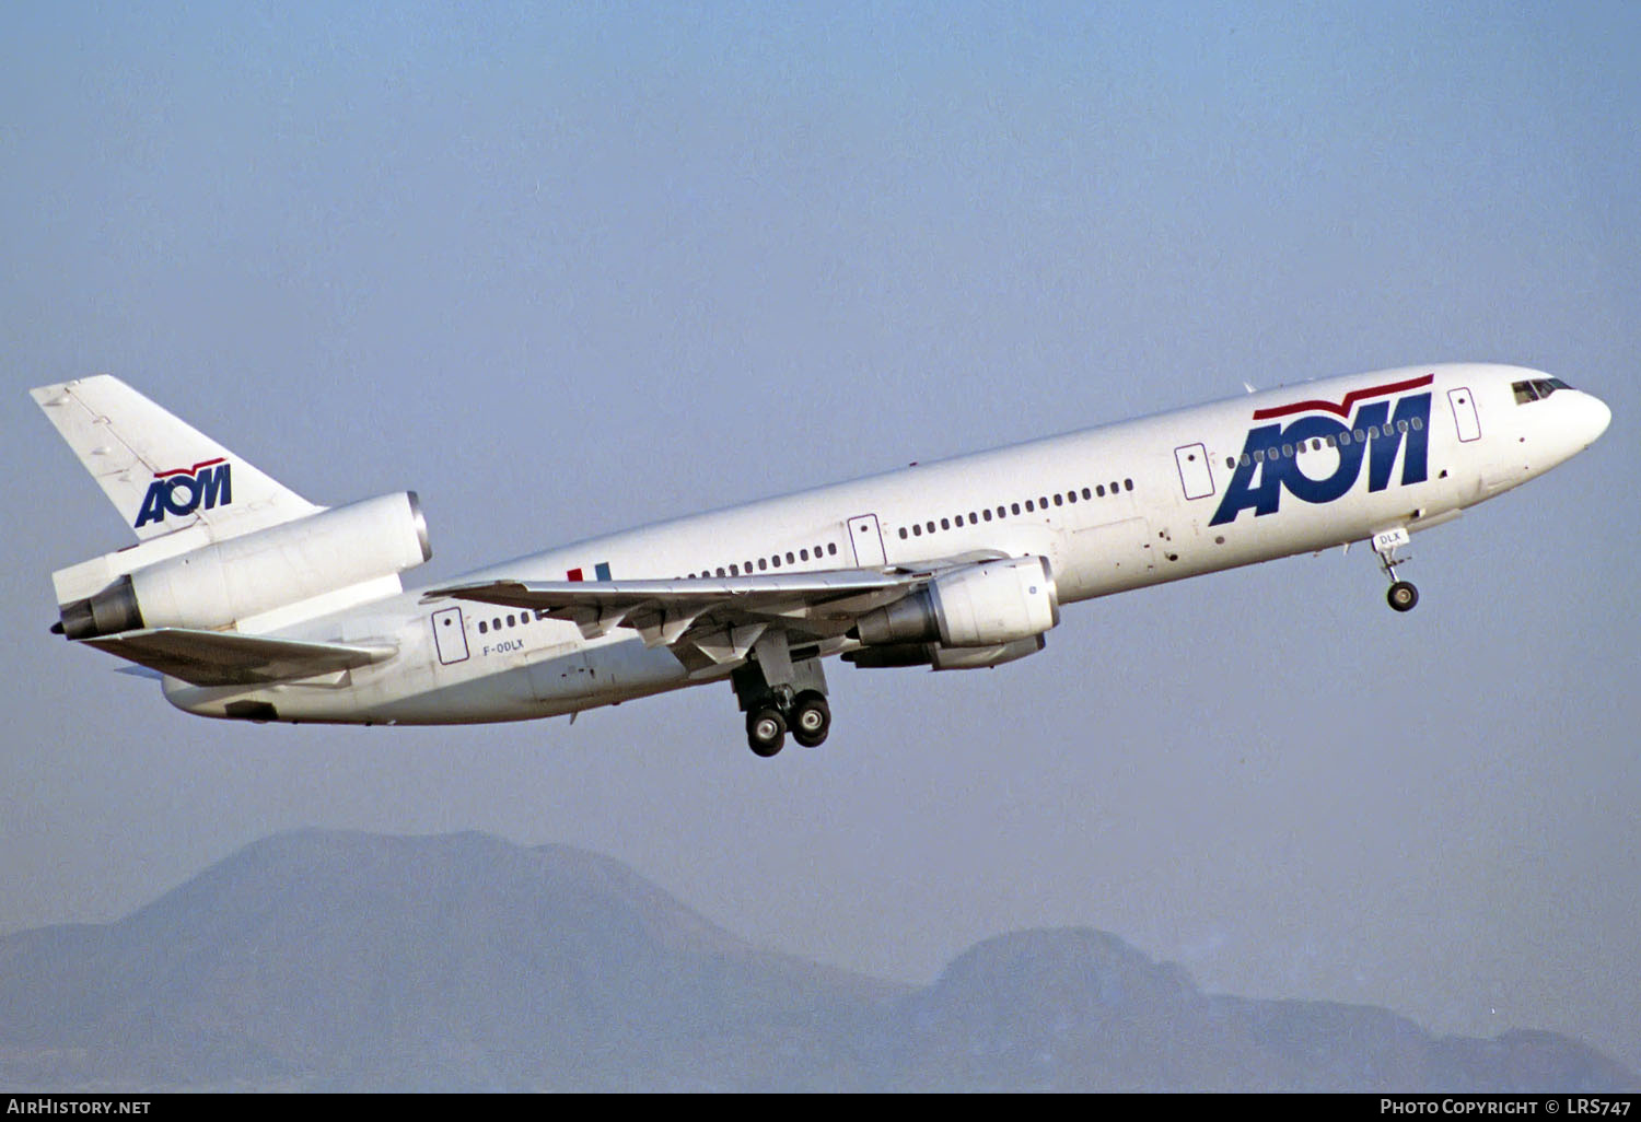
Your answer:
[[[1058,622],[1047,558],[1006,558],[942,572],[911,595],[862,615],[855,630],[866,646],[991,648],[1039,636]]]

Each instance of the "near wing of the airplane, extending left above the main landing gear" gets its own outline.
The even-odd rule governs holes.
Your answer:
[[[484,581],[430,589],[422,600],[473,600],[568,620],[584,638],[622,627],[645,646],[666,646],[694,673],[747,658],[761,635],[789,646],[842,640],[865,612],[893,604],[937,572],[999,554],[930,561],[922,568],[691,577],[681,581]]]

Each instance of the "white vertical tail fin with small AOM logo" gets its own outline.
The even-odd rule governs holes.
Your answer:
[[[30,390],[139,540],[233,538],[322,510],[117,377]]]

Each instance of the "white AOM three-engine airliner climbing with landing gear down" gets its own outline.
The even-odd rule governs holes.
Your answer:
[[[1410,535],[1544,474],[1611,422],[1500,364],[1249,392],[574,541],[404,591],[414,490],[318,507],[112,376],[31,390],[138,543],[53,574],[53,632],[189,714],[530,720],[729,682],[747,741],[832,725],[824,659],[981,669],[1060,609],[1364,541],[1396,612]]]

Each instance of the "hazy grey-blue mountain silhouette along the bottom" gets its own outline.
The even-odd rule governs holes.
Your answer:
[[[1620,1091],[1543,1032],[1201,992],[1095,930],[917,989],[760,950],[627,866],[304,830],[123,920],[0,938],[13,1089]]]

